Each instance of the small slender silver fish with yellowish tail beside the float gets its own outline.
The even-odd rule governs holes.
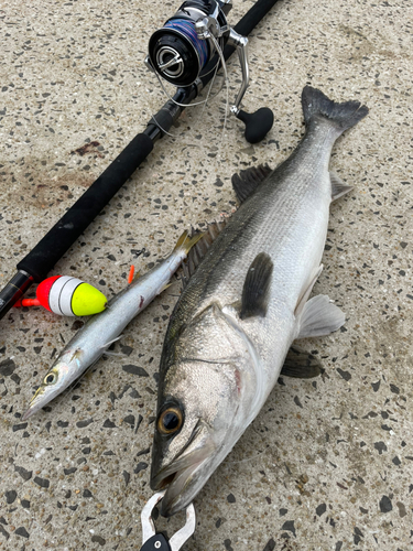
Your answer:
[[[200,231],[184,231],[172,253],[142,277],[137,277],[107,304],[104,312],[88,318],[56,358],[34,393],[23,421],[61,395],[121,337],[124,327],[166,287],[182,261],[200,238]]]

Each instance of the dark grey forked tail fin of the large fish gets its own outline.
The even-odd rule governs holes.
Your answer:
[[[314,117],[323,117],[330,120],[339,133],[357,125],[369,112],[369,109],[359,101],[336,104],[323,91],[311,86],[305,86],[303,89],[302,104],[306,125]]]

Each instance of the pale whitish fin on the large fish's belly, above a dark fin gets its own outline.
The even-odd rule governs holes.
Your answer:
[[[345,313],[334,305],[327,295],[318,294],[305,303],[296,338],[329,335],[341,327],[345,321]]]

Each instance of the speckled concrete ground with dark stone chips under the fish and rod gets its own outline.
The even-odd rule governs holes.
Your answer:
[[[252,1],[235,1],[235,24]],[[143,60],[178,8],[160,0],[2,0],[0,283],[141,132],[165,98]],[[332,206],[324,271],[343,331],[302,343],[326,369],[284,378],[195,500],[187,551],[407,551],[413,545],[411,2],[280,0],[250,40],[243,106],[274,127],[246,142],[225,94],[193,107],[58,262],[108,296],[189,225],[235,207],[230,176],[284,160],[303,134],[306,84],[369,116],[336,144],[355,190]],[[237,60],[228,66],[238,91]],[[140,255],[142,249],[145,255]],[[124,331],[119,357],[22,422],[79,321],[13,311],[0,336],[0,549],[140,549],[156,372],[176,280]],[[169,533],[183,517],[159,522]]]

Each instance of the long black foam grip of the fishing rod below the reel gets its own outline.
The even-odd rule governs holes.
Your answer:
[[[18,269],[30,273],[35,281],[41,282],[152,149],[153,142],[149,136],[144,133],[135,136],[43,239],[18,263]]]

